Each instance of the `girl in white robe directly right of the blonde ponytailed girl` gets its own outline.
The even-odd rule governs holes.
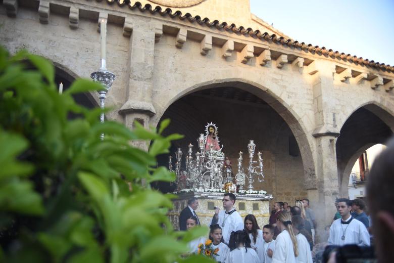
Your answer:
[[[311,247],[305,237],[305,235],[309,235],[309,233],[304,228],[304,218],[300,215],[294,215],[291,217],[291,222],[298,245],[298,256],[295,257],[295,260],[297,260],[298,263],[312,263]]]

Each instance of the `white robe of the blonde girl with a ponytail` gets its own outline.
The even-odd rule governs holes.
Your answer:
[[[293,243],[287,230],[283,230],[276,237],[272,263],[296,263]]]

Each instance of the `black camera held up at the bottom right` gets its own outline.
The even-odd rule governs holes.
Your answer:
[[[336,263],[375,263],[377,259],[372,246],[344,245],[327,246],[323,252],[322,262],[328,262],[331,253],[336,252]]]

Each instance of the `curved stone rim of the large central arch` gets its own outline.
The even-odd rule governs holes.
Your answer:
[[[308,139],[308,131],[305,125],[302,123],[302,118],[298,116],[294,110],[286,104],[279,96],[274,94],[267,87],[248,79],[243,78],[226,78],[226,79],[214,79],[205,81],[202,83],[194,84],[182,90],[170,100],[167,101],[164,109],[160,111],[151,121],[151,124],[157,126],[159,120],[162,118],[164,112],[169,108],[175,101],[185,97],[194,92],[206,90],[206,89],[217,89],[220,87],[232,86],[240,90],[249,92],[256,97],[266,102],[271,108],[279,114],[283,120],[287,123],[291,132],[297,141],[300,148],[301,158],[304,168],[304,181],[306,189],[316,189],[317,180],[315,174],[315,166],[312,155],[311,143]]]

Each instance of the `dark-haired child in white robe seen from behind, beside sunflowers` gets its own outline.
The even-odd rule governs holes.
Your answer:
[[[230,254],[226,263],[259,263],[260,258],[251,248],[251,239],[245,230],[232,232],[229,241]]]

